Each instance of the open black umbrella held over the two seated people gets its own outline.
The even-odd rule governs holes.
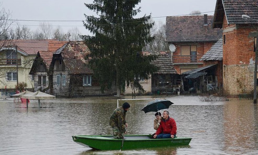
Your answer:
[[[172,103],[169,100],[154,100],[150,101],[141,111],[144,111],[145,113],[153,111],[157,112],[162,109],[167,109]]]

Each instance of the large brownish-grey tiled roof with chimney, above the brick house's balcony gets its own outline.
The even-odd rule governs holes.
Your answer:
[[[212,29],[213,16],[168,16],[166,19],[166,42],[211,42],[218,41],[222,29]]]

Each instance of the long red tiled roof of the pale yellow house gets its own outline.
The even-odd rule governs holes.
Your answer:
[[[56,49],[54,45],[52,45],[53,41],[57,41],[57,39],[44,39],[44,40],[3,40],[0,41],[1,45],[10,46],[17,45],[20,49],[25,51],[27,54],[37,54],[38,51],[47,51],[49,46],[51,46],[51,50]]]

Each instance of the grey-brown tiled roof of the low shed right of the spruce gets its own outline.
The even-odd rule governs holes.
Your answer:
[[[158,55],[158,58],[151,62],[155,66],[159,67],[156,74],[177,74],[174,66],[171,62],[171,55],[167,54],[166,51],[143,51],[143,55]]]

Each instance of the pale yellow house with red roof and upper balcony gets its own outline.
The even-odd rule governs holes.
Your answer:
[[[38,51],[56,50],[56,39],[0,41],[0,97],[15,92],[17,82],[27,83],[34,89],[34,79],[29,72]],[[17,50],[16,50],[17,49]]]

